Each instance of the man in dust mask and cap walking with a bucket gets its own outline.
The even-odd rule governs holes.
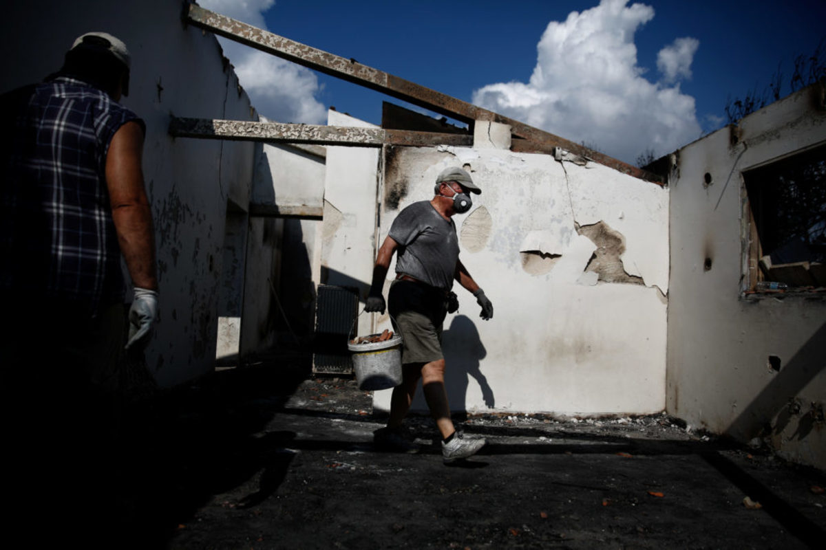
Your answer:
[[[476,454],[484,439],[465,438],[450,419],[448,395],[444,388],[444,355],[441,338],[444,317],[458,308],[453,281],[468,289],[482,307],[480,317],[493,317],[493,304],[468,270],[459,261],[458,237],[453,214],[467,212],[470,194],[481,194],[468,172],[462,168],[447,168],[436,177],[434,197],[403,209],[393,221],[387,238],[379,248],[373,268],[365,311],[384,313],[382,296],[384,279],[393,253],[396,256],[396,280],[388,294],[393,325],[402,337],[402,383],[393,389],[390,419],[387,427],[377,430],[378,447],[415,451],[401,430],[402,421],[421,379],[425,401],[442,436],[442,456],[445,463]]]

